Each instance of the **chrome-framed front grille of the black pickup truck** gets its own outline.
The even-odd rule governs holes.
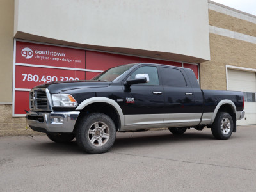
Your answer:
[[[30,92],[30,109],[32,111],[51,111],[46,88],[33,89]]]

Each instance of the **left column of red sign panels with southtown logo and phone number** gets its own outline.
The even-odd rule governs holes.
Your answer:
[[[85,51],[15,40],[13,116],[29,110],[31,88],[51,81],[85,79]]]

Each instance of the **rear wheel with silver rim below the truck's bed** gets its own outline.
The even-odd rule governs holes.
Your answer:
[[[212,124],[212,135],[218,140],[227,140],[232,135],[234,123],[229,113],[219,112]]]

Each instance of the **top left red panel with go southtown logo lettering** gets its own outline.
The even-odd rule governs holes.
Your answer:
[[[16,63],[85,68],[85,51],[17,41]]]

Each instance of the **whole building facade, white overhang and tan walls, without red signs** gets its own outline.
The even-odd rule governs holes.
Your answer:
[[[203,89],[227,90],[226,65],[256,69],[256,17],[253,15],[211,1],[207,10],[208,3],[204,0],[163,0],[158,4],[134,1],[130,5],[125,5],[127,1],[114,0],[106,4],[105,1],[76,2],[76,6],[71,0],[61,1],[61,5],[49,0],[0,2],[0,136],[38,134],[26,129],[26,118],[12,117],[14,36],[150,58],[196,61],[200,63]],[[96,11],[92,12],[92,8]],[[211,61],[201,63],[209,60],[209,48]]]

